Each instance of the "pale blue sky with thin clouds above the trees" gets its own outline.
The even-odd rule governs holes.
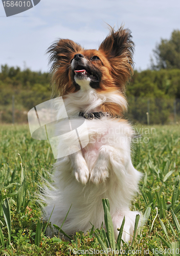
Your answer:
[[[48,71],[47,48],[57,38],[69,38],[97,49],[107,24],[124,24],[136,44],[134,68],[150,67],[152,49],[161,38],[180,30],[179,0],[41,0],[34,8],[6,17],[0,2],[0,65]]]

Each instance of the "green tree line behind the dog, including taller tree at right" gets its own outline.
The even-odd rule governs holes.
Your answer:
[[[144,104],[147,105],[149,104],[147,100],[148,102],[151,100],[151,119],[155,120],[152,110],[161,111],[164,113],[163,116],[161,114],[162,120],[156,118],[156,123],[158,121],[164,123],[170,114],[169,104],[172,105],[172,102],[166,104],[165,102],[170,102],[168,99],[180,99],[180,31],[174,30],[169,40],[161,39],[160,44],[155,46],[153,54],[151,68],[144,71],[135,70],[130,83],[127,84],[126,96],[131,102],[129,115],[132,119],[135,117],[135,120],[138,118],[142,120],[143,117],[143,122],[146,122],[146,115],[140,113],[141,111],[134,106],[139,104],[141,109],[142,102],[146,102]],[[1,119],[4,110],[6,110],[6,118],[9,111],[9,119],[11,119],[12,95],[15,96],[16,111],[29,111],[33,106],[51,98],[50,77],[45,72],[2,65],[0,92]],[[160,104],[155,102],[155,99],[164,99],[164,101]],[[136,110],[137,113],[134,113]]]

